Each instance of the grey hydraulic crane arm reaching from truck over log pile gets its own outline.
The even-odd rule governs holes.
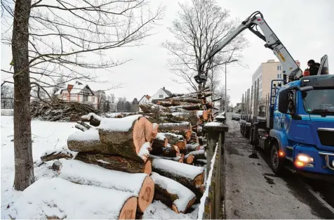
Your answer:
[[[262,30],[262,33],[256,30],[256,27],[260,27]],[[208,57],[203,60],[203,62],[200,64],[200,66],[205,65],[205,63],[213,58],[216,53],[222,50],[229,42],[231,42],[235,37],[237,37],[243,30],[249,29],[251,32],[253,32],[256,36],[260,37],[263,41],[266,42],[265,47],[270,48],[275,56],[279,58],[279,61],[282,65],[282,72],[283,75],[286,75],[289,77],[289,79],[298,79],[302,76],[302,70],[300,70],[300,67],[298,67],[297,63],[295,63],[295,60],[293,57],[288,53],[286,50],[286,47],[283,46],[279,38],[274,34],[272,29],[267,25],[267,22],[265,22],[265,19],[262,16],[262,13],[260,11],[256,11],[255,13],[251,14],[246,20],[241,22],[241,25],[236,28],[231,34],[229,34],[227,37],[223,38],[222,40],[218,41],[218,44],[216,44],[212,51],[209,53]],[[254,29],[255,28],[255,29]],[[201,83],[204,80],[206,80],[206,77],[197,75],[194,77],[197,83]]]

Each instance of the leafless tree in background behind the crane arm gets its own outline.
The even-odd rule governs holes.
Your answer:
[[[203,73],[207,76],[209,71],[206,70],[239,62],[241,51],[248,46],[248,41],[242,36],[236,37],[207,65],[200,65],[218,41],[231,33],[239,22],[230,18],[229,11],[218,6],[215,0],[192,0],[179,6],[178,18],[168,28],[175,41],[166,41],[162,46],[172,55],[167,66],[178,78],[174,81],[196,91],[206,83],[197,85],[194,75]]]

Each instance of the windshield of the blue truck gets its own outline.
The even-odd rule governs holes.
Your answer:
[[[302,92],[305,111],[309,114],[334,115],[334,89]]]

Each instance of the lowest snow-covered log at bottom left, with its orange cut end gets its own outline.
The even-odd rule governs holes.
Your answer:
[[[135,219],[133,193],[42,178],[11,206],[13,219]]]

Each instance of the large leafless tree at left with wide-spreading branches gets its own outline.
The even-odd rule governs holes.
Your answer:
[[[16,190],[34,182],[30,91],[44,91],[73,79],[96,81],[96,69],[127,60],[112,60],[107,50],[140,44],[149,36],[163,8],[150,11],[147,0],[3,0],[1,42],[11,45],[13,75]],[[2,28],[3,20],[8,27]],[[98,72],[98,71],[97,71]]]

